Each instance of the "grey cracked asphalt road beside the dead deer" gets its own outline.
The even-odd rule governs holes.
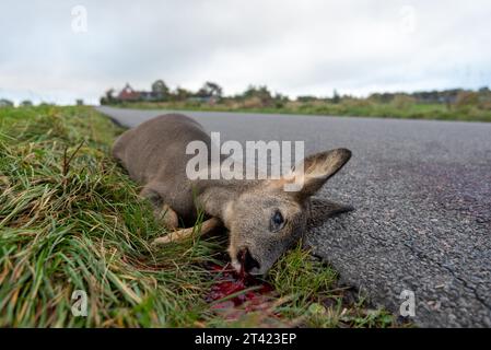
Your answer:
[[[164,113],[98,110],[129,127]],[[355,211],[313,220],[306,244],[375,305],[398,314],[412,291],[419,326],[491,327],[491,124],[186,114],[222,140],[352,150],[318,197]]]

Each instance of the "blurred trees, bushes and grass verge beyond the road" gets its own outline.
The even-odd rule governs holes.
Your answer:
[[[340,95],[299,96],[295,100],[272,93],[267,86],[249,86],[242,94],[225,96],[222,88],[207,82],[197,92],[171,90],[159,80],[151,91],[121,92],[110,89],[101,98],[103,105],[132,108],[161,108],[218,112],[254,112],[383,118],[491,121],[491,91],[446,90],[416,93],[374,93],[366,98]]]

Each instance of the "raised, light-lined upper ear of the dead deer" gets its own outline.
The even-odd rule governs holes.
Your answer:
[[[314,195],[350,158],[351,151],[347,149],[336,149],[305,158],[293,170],[295,183],[299,183],[299,179],[303,182],[299,195],[301,197]]]

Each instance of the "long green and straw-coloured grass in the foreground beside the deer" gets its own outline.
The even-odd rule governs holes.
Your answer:
[[[267,312],[217,313],[207,264],[223,264],[226,237],[149,246],[164,231],[110,156],[121,131],[90,107],[0,108],[0,327],[396,325],[347,303],[337,273],[300,246],[266,278]],[[71,313],[75,290],[86,317]]]

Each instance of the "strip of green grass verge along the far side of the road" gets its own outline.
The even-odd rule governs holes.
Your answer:
[[[199,102],[163,102],[163,103],[122,103],[116,106],[142,109],[183,109],[210,112],[248,112],[326,116],[379,117],[400,119],[434,119],[461,121],[491,121],[491,108],[488,105],[446,105],[437,103],[414,103],[395,100],[379,103],[369,100],[343,98],[339,103],[325,101],[297,102],[261,105],[260,102],[230,102],[213,105]]]

